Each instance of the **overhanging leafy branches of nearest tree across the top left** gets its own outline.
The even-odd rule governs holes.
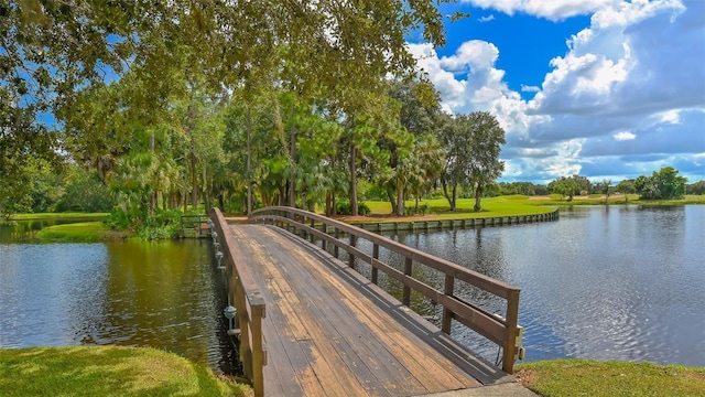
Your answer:
[[[37,114],[54,112],[64,121],[82,92],[130,72],[139,71],[142,87],[130,101],[147,118],[185,89],[172,84],[182,71],[203,74],[208,89],[221,95],[264,84],[304,98],[323,94],[343,106],[382,93],[387,75],[414,72],[406,47],[411,31],[421,28],[424,40],[445,43],[443,15],[431,0],[322,0],[315,7],[274,0],[11,0],[0,4],[0,26],[2,135],[50,157],[59,142],[37,150],[45,137],[28,132],[22,120],[36,125]],[[26,117],[9,117],[17,109]],[[7,178],[15,170],[2,172]]]

